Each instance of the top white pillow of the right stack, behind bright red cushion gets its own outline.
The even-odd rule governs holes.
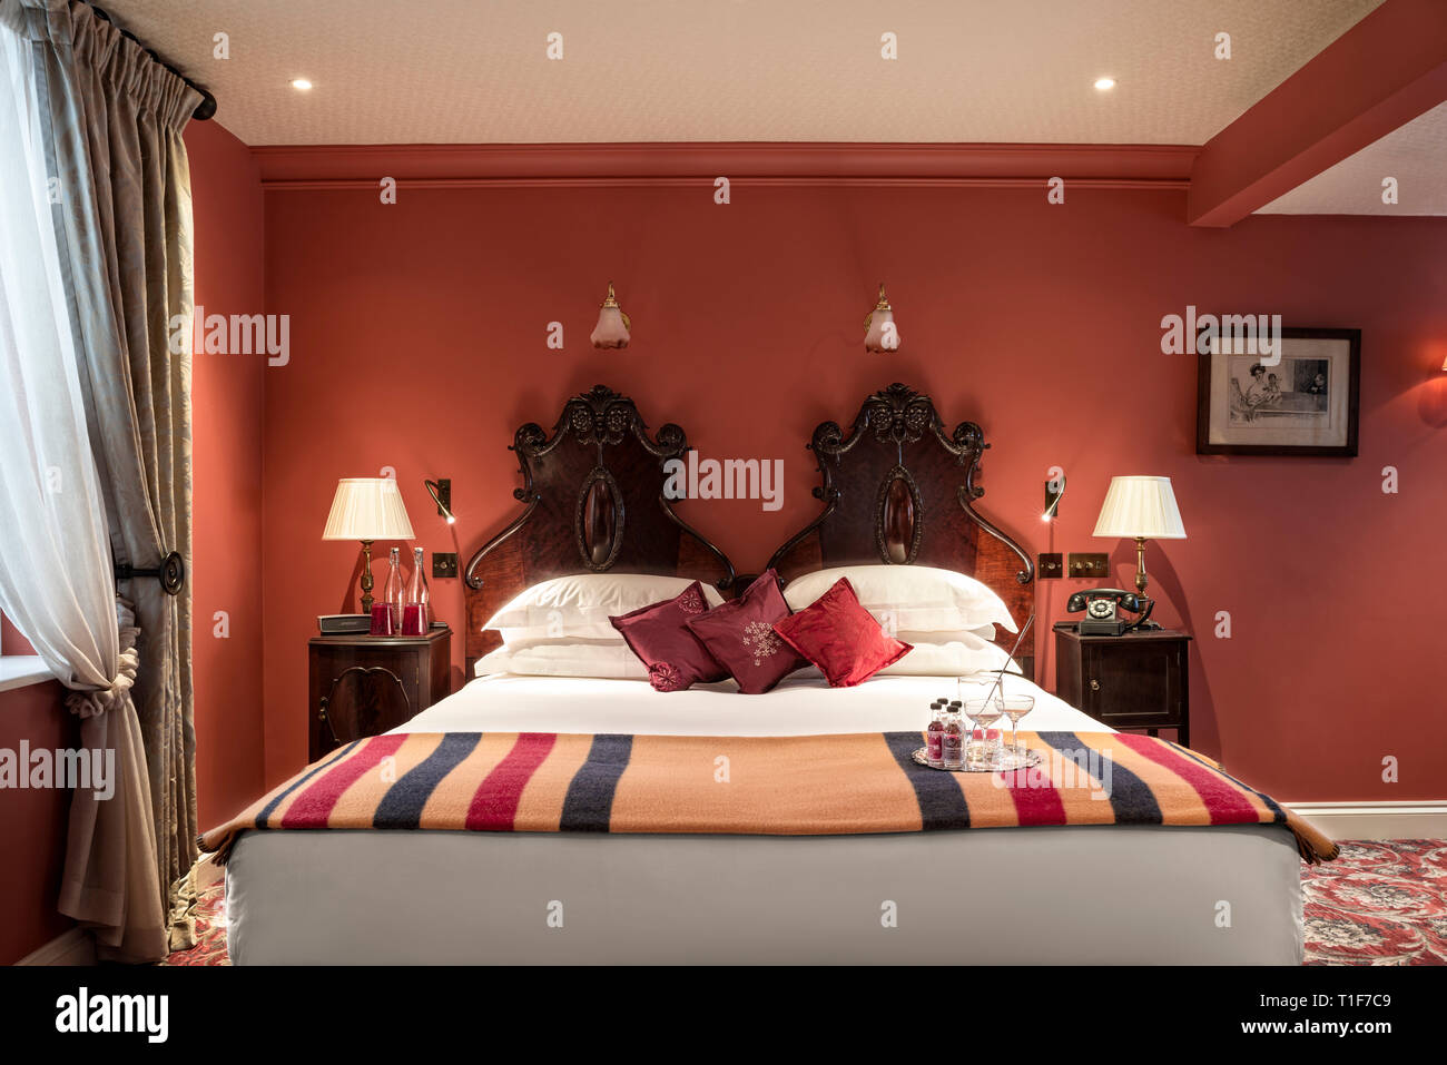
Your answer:
[[[990,625],[1016,631],[1004,601],[988,585],[955,570],[933,566],[836,566],[789,582],[784,601],[802,611],[848,577],[860,605],[887,629],[899,632],[958,632],[993,635]],[[909,657],[909,655],[906,655]]]

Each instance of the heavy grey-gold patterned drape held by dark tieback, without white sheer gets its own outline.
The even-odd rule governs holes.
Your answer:
[[[0,0],[14,3],[16,0]],[[191,560],[191,178],[181,132],[200,94],[74,0],[19,0],[27,16],[61,269],[111,553],[155,569]],[[133,605],[135,705],[159,883],[195,858],[191,592],[153,577]]]

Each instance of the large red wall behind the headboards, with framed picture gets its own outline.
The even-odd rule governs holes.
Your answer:
[[[291,363],[266,372],[262,579],[266,780],[305,761],[307,638],[349,605],[356,547],[323,543],[337,478],[394,466],[421,546],[467,553],[517,504],[506,444],[595,382],[705,457],[784,459],[784,506],[684,504],[741,572],[816,511],[805,443],[904,381],[994,447],[985,512],[1033,550],[1133,548],[1090,532],[1111,475],[1175,480],[1189,540],[1152,546],[1156,616],[1195,635],[1195,745],[1288,800],[1447,793],[1435,640],[1447,450],[1447,220],[1252,217],[1182,224],[1184,191],[735,187],[408,188],[266,194],[266,310]],[[903,349],[862,350],[888,282]],[[625,352],[587,344],[606,282]],[[1363,330],[1356,460],[1198,457],[1195,363],[1160,353],[1187,304]],[[546,347],[564,323],[566,349]],[[1069,491],[1039,522],[1046,470]],[[1396,466],[1398,495],[1382,467]],[[453,479],[453,534],[424,478]],[[456,541],[454,541],[456,535]],[[385,550],[379,550],[385,557]],[[1097,582],[1090,582],[1091,585]],[[1106,583],[1106,582],[1100,582]],[[1081,582],[1042,585],[1040,631]],[[462,622],[459,582],[433,582]],[[1213,637],[1231,612],[1231,640]],[[462,638],[453,642],[460,680]],[[1053,647],[1040,642],[1045,683]],[[1401,760],[1385,784],[1382,758]]]

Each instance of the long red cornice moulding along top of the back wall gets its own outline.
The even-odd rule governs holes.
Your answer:
[[[268,190],[745,185],[1188,188],[1194,145],[587,143],[252,148]]]

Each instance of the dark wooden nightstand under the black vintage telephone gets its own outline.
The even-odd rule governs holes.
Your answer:
[[[1185,632],[1134,629],[1120,637],[1082,637],[1055,625],[1055,693],[1095,721],[1150,735],[1176,729],[1191,745],[1189,670]]]

